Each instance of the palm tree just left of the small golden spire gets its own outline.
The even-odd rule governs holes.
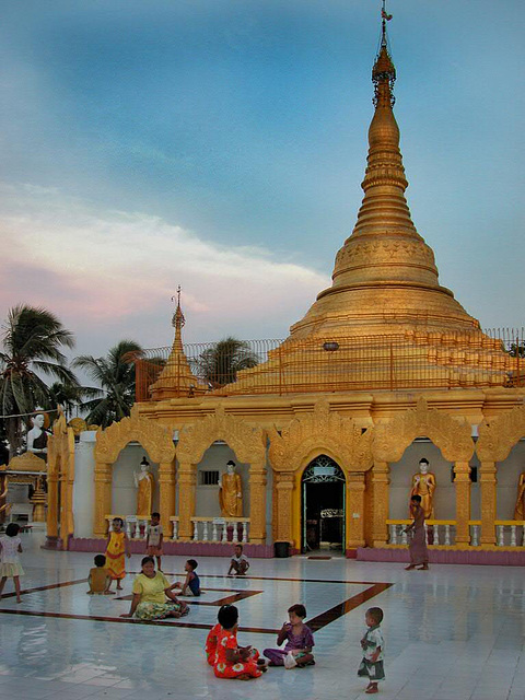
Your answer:
[[[135,340],[120,340],[106,358],[83,354],[73,366],[83,370],[101,388],[91,389],[96,398],[81,404],[88,423],[107,428],[129,416],[135,402],[135,359],[142,348]]]

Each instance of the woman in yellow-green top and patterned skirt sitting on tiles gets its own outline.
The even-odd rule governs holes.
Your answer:
[[[142,571],[133,582],[133,598],[129,612],[120,617],[139,620],[162,620],[165,617],[183,617],[189,612],[186,603],[177,600],[172,586],[162,571],[155,571],[153,557],[142,559]],[[166,597],[170,598],[166,602]]]

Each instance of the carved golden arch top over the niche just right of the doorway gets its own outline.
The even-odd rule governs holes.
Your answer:
[[[468,421],[429,408],[421,397],[416,408],[374,427],[374,459],[399,462],[416,438],[422,436],[429,438],[448,462],[468,462],[474,454],[475,445]]]

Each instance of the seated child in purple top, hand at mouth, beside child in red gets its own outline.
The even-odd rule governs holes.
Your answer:
[[[290,622],[284,622],[277,637],[277,643],[280,645],[287,641],[284,649],[265,649],[264,655],[270,660],[270,666],[285,666],[293,668],[294,666],[314,665],[314,655],[312,648],[314,646],[314,635],[310,627],[303,620],[306,617],[306,608],[304,605],[292,605],[288,609]]]

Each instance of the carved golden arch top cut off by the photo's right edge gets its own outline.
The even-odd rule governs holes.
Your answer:
[[[525,406],[516,406],[478,429],[476,452],[481,462],[503,462],[525,435]]]

